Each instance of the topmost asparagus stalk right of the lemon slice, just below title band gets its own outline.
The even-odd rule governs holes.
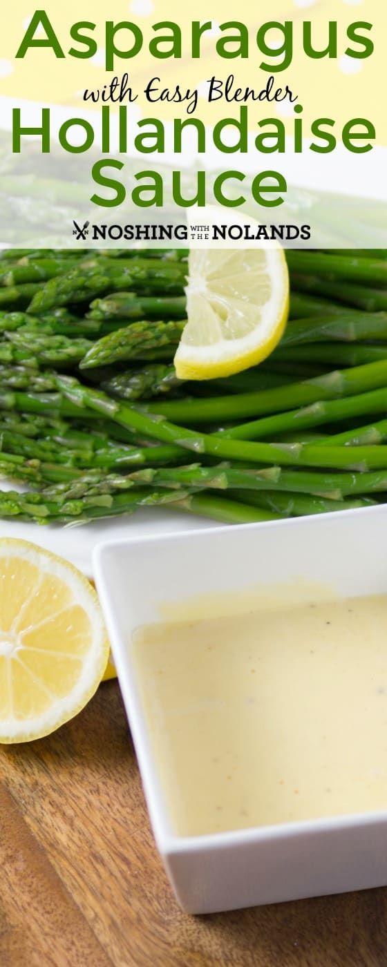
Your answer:
[[[290,270],[316,276],[354,279],[355,282],[387,282],[387,263],[383,259],[338,256],[316,251],[288,249]]]

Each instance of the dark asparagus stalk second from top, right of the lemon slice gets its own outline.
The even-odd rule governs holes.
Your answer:
[[[383,289],[294,272],[291,274],[291,285],[297,291],[313,292],[315,295],[336,299],[346,306],[364,309],[366,312],[387,309],[387,292]]]

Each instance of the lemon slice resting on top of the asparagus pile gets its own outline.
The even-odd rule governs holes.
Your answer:
[[[179,379],[215,379],[255,366],[286,325],[289,279],[283,249],[192,249],[188,323],[175,356]]]

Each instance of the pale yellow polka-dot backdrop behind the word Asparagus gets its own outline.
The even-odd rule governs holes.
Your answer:
[[[226,113],[232,115],[235,104],[225,105],[223,101],[209,104],[206,100],[207,81],[213,74],[225,78],[234,73],[238,86],[262,88],[267,80],[259,69],[262,55],[256,47],[255,36],[258,27],[267,20],[288,20],[293,26],[293,55],[291,64],[283,72],[277,72],[276,85],[288,84],[304,107],[306,129],[313,118],[328,116],[335,119],[338,129],[352,117],[363,116],[372,120],[376,128],[376,143],[387,143],[387,130],[382,96],[385,67],[385,39],[387,36],[387,4],[384,0],[197,0],[194,6],[182,5],[181,0],[114,0],[106,4],[102,0],[46,0],[45,12],[55,29],[60,44],[66,54],[72,45],[70,28],[79,20],[96,24],[94,36],[98,50],[90,60],[78,60],[66,56],[57,60],[52,50],[36,48],[29,50],[23,60],[15,60],[16,50],[28,27],[35,7],[29,0],[14,0],[3,8],[0,36],[0,96],[8,99],[22,99],[42,104],[57,104],[66,107],[84,107],[82,101],[86,88],[101,88],[111,80],[112,73],[105,72],[104,66],[104,23],[132,20],[143,32],[144,44],[141,52],[133,59],[117,60],[113,73],[122,76],[128,71],[130,81],[139,94],[136,112],[143,116],[152,113],[152,107],[141,97],[141,91],[150,77],[159,75],[163,86],[180,83],[183,87],[197,87],[199,103],[196,116],[207,124],[215,123]],[[201,56],[193,61],[191,56],[192,19],[208,20],[211,17],[212,30],[203,36]],[[215,43],[219,36],[219,24],[228,20],[241,20],[249,28],[249,59],[223,60],[216,54]],[[155,36],[152,25],[159,21],[172,20],[181,26],[183,51],[181,59],[157,60],[150,56],[149,40]],[[303,21],[310,20],[313,25],[313,44],[323,49],[328,39],[328,21],[338,23],[338,56],[328,59],[311,60],[303,51]],[[355,59],[345,54],[348,46],[347,25],[354,21],[372,23],[374,52],[367,59]],[[41,31],[42,34],[42,31]],[[38,36],[38,34],[37,34]],[[281,35],[273,30],[268,41],[275,47],[281,44]],[[95,105],[100,109],[100,105]],[[89,102],[87,107],[92,109]],[[0,107],[1,109],[1,107]],[[290,127],[293,111],[288,103],[277,103],[271,107],[273,116],[282,117]],[[183,116],[185,107],[176,104],[157,105],[160,118],[167,121],[174,116]],[[259,117],[268,116],[267,103],[253,105],[252,125]]]

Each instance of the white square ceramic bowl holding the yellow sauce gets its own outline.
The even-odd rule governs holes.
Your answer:
[[[386,536],[387,507],[380,506],[97,548],[95,578],[156,843],[178,902],[189,913],[386,884],[387,802],[385,812],[175,835],[135,681],[134,629],[160,621],[165,603],[257,585],[264,592],[298,578],[329,585],[341,597],[386,594]]]

